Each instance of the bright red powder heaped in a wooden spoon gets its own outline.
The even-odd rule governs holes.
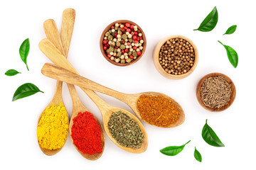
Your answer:
[[[83,154],[92,155],[102,152],[101,135],[100,125],[92,113],[80,112],[77,117],[73,118],[71,137],[74,145]]]

